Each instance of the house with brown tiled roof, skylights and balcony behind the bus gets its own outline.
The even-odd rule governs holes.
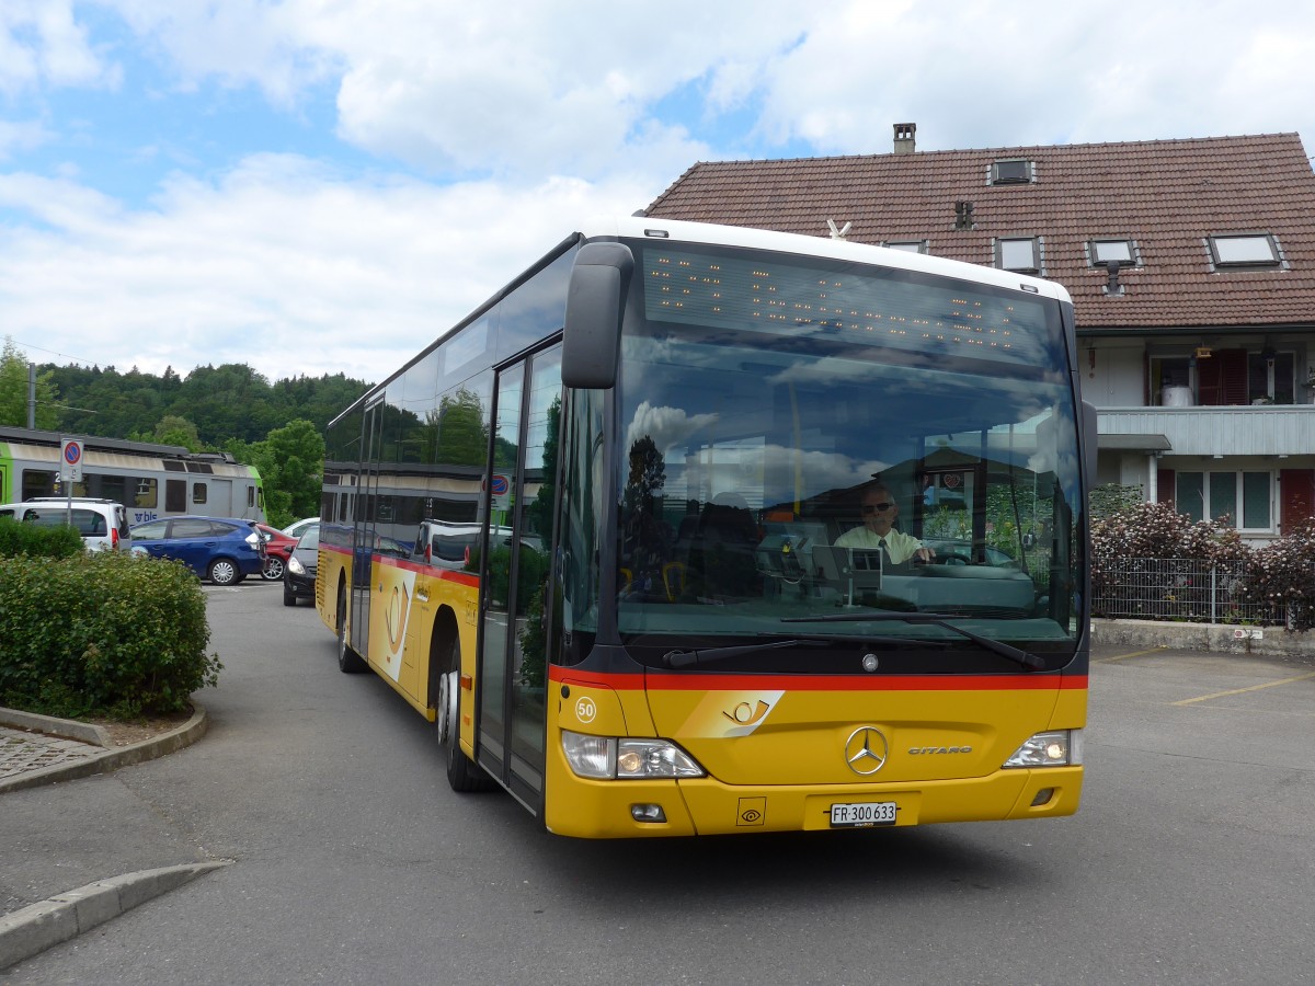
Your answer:
[[[1099,481],[1266,539],[1315,504],[1315,172],[1298,134],[701,162],[659,218],[843,234],[1073,297]]]

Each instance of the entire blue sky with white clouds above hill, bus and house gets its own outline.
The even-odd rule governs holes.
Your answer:
[[[0,0],[0,337],[377,380],[697,160],[1312,150],[1312,50],[1315,8],[1211,0]]]

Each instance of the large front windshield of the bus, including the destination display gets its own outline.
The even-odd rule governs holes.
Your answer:
[[[1026,667],[1073,656],[1082,504],[1059,302],[634,250],[615,585],[597,606],[636,660],[815,673],[844,653],[853,673],[859,644],[882,667],[981,673],[1009,667],[992,642]]]

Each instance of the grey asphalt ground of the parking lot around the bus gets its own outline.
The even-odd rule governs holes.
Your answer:
[[[1072,818],[579,841],[454,794],[433,727],[276,584],[205,593],[205,738],[5,809],[70,886],[110,843],[233,864],[7,981],[1315,982],[1307,660],[1097,648]]]

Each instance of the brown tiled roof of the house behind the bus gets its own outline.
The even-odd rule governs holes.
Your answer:
[[[1034,184],[992,185],[992,162],[1035,162]],[[955,202],[976,229],[955,229]],[[1315,327],[1315,172],[1298,134],[794,160],[702,162],[648,206],[661,218],[828,235],[927,239],[994,263],[997,237],[1043,237],[1043,276],[1072,293],[1080,331]],[[1283,270],[1211,271],[1206,237],[1273,233]],[[1136,241],[1120,296],[1086,259],[1093,238]]]

